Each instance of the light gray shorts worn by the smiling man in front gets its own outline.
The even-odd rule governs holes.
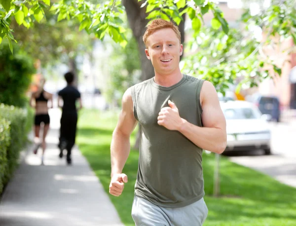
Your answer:
[[[135,195],[132,207],[136,226],[202,226],[207,216],[203,198],[185,207],[166,208]]]

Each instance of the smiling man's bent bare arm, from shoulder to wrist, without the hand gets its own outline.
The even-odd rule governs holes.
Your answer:
[[[226,121],[216,89],[211,82],[204,82],[201,88],[200,100],[203,110],[203,127],[193,125],[183,119],[180,132],[198,147],[222,153],[227,143]]]

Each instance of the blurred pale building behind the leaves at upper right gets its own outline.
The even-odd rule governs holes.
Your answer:
[[[243,6],[249,7],[251,13],[258,13],[260,7],[268,7],[270,0],[264,1],[244,1],[241,0],[218,0],[219,7],[223,12],[224,18],[229,27],[239,28],[238,20],[240,19],[244,9]],[[246,3],[247,2],[247,3]],[[211,12],[204,15],[205,24],[210,26],[213,14]],[[262,32],[262,40],[264,40],[264,31]],[[274,75],[273,69],[265,67],[270,71],[271,79],[265,79],[259,84],[259,87],[243,90],[240,94],[252,95],[260,93],[262,95],[276,96],[280,100],[281,106],[284,108],[296,109],[296,53],[283,52],[283,50],[291,50],[295,48],[292,38],[286,40],[274,39],[275,45],[264,46],[263,54],[273,59],[277,67],[282,69],[282,75]]]

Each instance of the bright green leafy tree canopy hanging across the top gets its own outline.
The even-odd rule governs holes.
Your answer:
[[[179,25],[184,14],[187,14],[191,21],[193,39],[188,45],[188,51],[191,53],[185,59],[185,70],[211,80],[222,92],[237,80],[249,86],[258,84],[270,76],[265,70],[266,65],[271,65],[273,71],[280,75],[281,65],[268,55],[262,54],[264,47],[275,48],[287,38],[293,38],[296,43],[294,0],[270,0],[269,4],[261,0],[243,1],[248,7],[242,15],[239,28],[229,28],[223,12],[214,0],[125,1],[138,4],[144,9],[147,20],[172,19]],[[13,51],[12,41],[17,41],[17,38],[14,38],[11,30],[12,19],[15,18],[18,25],[30,28],[34,21],[48,23],[44,10],[49,9],[57,15],[58,22],[76,21],[79,31],[85,30],[102,40],[109,35],[116,43],[125,47],[126,27],[122,18],[126,11],[123,2],[0,0],[0,42],[7,38]],[[213,15],[211,27],[203,26],[206,13]],[[261,29],[263,38],[259,39],[254,35],[256,29]],[[198,51],[193,51],[194,46]],[[289,52],[292,48],[282,51]]]

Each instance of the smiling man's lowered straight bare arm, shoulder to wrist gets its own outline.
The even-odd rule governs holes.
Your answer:
[[[133,113],[133,100],[130,88],[122,97],[122,110],[111,141],[111,177],[120,174],[130,152],[130,135],[137,125]]]

